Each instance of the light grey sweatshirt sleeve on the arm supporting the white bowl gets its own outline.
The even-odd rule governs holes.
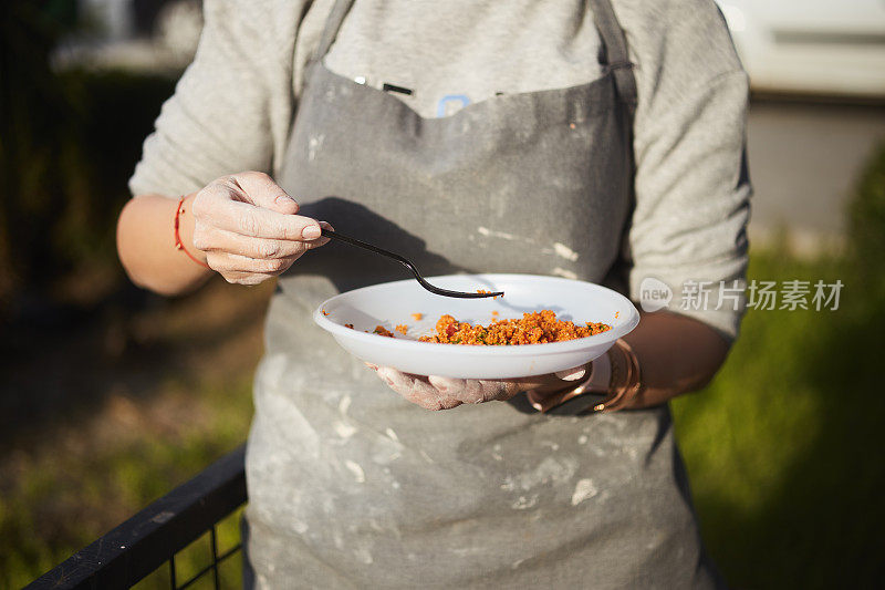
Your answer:
[[[643,290],[660,281],[673,291],[670,311],[730,341],[747,268],[747,75],[712,0],[656,6],[643,14],[645,41],[633,35],[639,96],[631,297],[643,301]]]

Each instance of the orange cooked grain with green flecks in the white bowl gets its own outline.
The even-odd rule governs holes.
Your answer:
[[[492,320],[489,325],[472,325],[459,322],[451,315],[442,315],[436,322],[436,334],[421,337],[421,342],[473,345],[519,345],[564,342],[592,337],[611,330],[601,322],[575,325],[568,320],[558,320],[551,310],[523,313],[521,320]]]

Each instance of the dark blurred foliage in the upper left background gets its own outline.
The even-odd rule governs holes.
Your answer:
[[[0,322],[126,289],[114,226],[126,180],[175,79],[54,72],[73,2],[0,3]],[[92,281],[88,289],[75,283]],[[85,300],[84,300],[85,298]]]

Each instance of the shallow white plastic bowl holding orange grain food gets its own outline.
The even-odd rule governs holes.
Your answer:
[[[405,373],[460,379],[523,377],[579,366],[604,354],[615,340],[639,323],[639,313],[627,298],[590,282],[537,275],[448,275],[427,280],[458,291],[504,291],[504,297],[440,297],[408,279],[337,294],[316,308],[313,320],[363,361]],[[558,319],[579,325],[605,322],[612,329],[566,342],[519,346],[436,344],[417,340],[433,334],[437,320],[446,313],[458,321],[488,324],[492,321],[492,311],[498,311],[497,319],[506,320],[543,309],[553,310]],[[413,313],[421,313],[421,320],[413,319]],[[354,328],[346,328],[347,323]],[[395,330],[399,324],[408,327],[406,335]],[[371,333],[376,325],[383,325],[396,338]]]

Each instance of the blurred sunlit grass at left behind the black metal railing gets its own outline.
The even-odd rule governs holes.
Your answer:
[[[113,427],[113,442],[72,442],[65,435],[54,451],[46,445],[35,453],[3,457],[18,459],[18,465],[9,469],[14,480],[6,482],[0,497],[0,588],[28,583],[244,439],[252,411],[250,374],[223,382],[183,380],[165,390],[152,401],[114,403],[132,404],[124,414],[147,412],[146,404],[183,410],[176,418],[186,420],[170,431],[158,432],[153,421],[129,422],[124,416],[123,426],[129,427],[127,432]],[[118,413],[112,408],[103,417],[113,421]],[[65,443],[80,448],[65,448]],[[219,551],[237,542],[238,515],[220,525]],[[208,565],[209,555],[208,536],[183,551],[176,558],[179,583]],[[225,587],[237,587],[239,556],[226,561],[221,571]],[[168,588],[168,568],[138,588]]]

